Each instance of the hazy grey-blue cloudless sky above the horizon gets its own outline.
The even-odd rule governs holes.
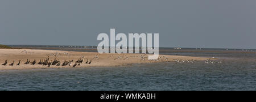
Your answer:
[[[256,49],[256,1],[0,1],[0,44],[98,45],[110,28],[159,33],[160,46]]]

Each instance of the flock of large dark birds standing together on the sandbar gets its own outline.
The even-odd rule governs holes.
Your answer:
[[[13,61],[13,63],[10,63],[9,65],[10,66],[14,66],[14,62],[15,61]],[[27,62],[25,62],[24,64],[26,64],[26,65],[28,65],[28,64],[30,64],[31,63],[31,65],[44,65],[44,66],[48,66],[48,67],[50,67],[50,66],[53,66],[53,65],[56,65],[56,66],[69,66],[69,67],[76,67],[76,66],[80,66],[81,64],[82,64],[82,62],[84,62],[84,57],[81,57],[81,58],[79,58],[76,62],[75,62],[75,64],[72,66],[72,62],[73,62],[73,60],[68,60],[68,61],[64,61],[62,64],[61,64],[61,62],[59,61],[59,60],[56,60],[56,59],[54,59],[53,61],[52,60],[49,60],[49,56],[48,56],[48,58],[46,58],[46,59],[40,59],[40,61],[38,62],[38,63],[36,63],[36,59],[34,59],[34,61],[33,62],[30,62],[30,60],[29,59],[27,59]],[[8,63],[8,61],[6,60],[5,61],[5,63],[3,63],[2,65],[3,66],[6,66],[7,65],[7,63]],[[91,64],[92,63],[92,59],[90,59],[90,61],[89,61],[89,59],[87,59],[87,61],[85,62],[86,64]],[[17,63],[16,64],[16,66],[19,66],[20,65],[20,60],[19,60],[19,63]]]

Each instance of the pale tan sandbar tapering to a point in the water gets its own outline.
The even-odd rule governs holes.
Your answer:
[[[24,51],[26,50],[26,52]],[[84,62],[77,67],[107,67],[107,66],[127,66],[134,63],[156,63],[156,62],[172,62],[174,59],[194,59],[197,61],[203,61],[208,58],[204,57],[187,57],[187,56],[166,56],[160,55],[159,61],[148,61],[147,56],[144,54],[100,54],[100,53],[91,53],[91,52],[69,52],[69,51],[60,51],[60,50],[36,50],[36,49],[0,49],[0,70],[19,70],[19,69],[42,69],[42,68],[73,68],[70,66],[43,66],[43,65],[31,65],[24,64],[27,59],[30,59],[30,62],[36,59],[37,63],[40,59],[46,59],[49,56],[49,60],[54,60],[55,58],[61,62],[65,60],[74,60],[72,65],[79,58],[84,56]],[[96,58],[98,56],[98,58]],[[141,56],[146,57],[145,60],[141,59]],[[168,58],[168,59],[166,59]],[[8,60],[6,66],[2,64],[5,60]],[[87,59],[92,59],[92,63],[86,64]],[[16,64],[21,60],[19,66]],[[9,64],[15,61],[14,66]],[[77,68],[76,67],[76,68]]]

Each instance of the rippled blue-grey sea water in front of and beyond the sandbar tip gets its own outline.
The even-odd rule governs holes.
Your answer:
[[[73,49],[76,50],[76,49]],[[151,63],[127,67],[1,70],[0,90],[256,90],[255,50],[172,50],[222,64]]]

